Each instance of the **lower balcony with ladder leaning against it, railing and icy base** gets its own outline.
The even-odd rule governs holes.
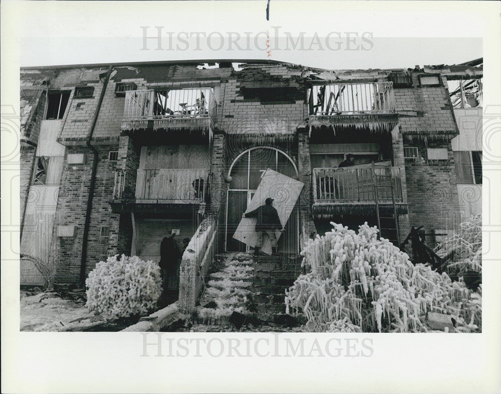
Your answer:
[[[391,184],[386,176],[391,175]],[[376,188],[380,205],[392,205],[406,213],[399,167],[313,169],[313,214],[375,214]],[[393,196],[392,196],[393,187]]]

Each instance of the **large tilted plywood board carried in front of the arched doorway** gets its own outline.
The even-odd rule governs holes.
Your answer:
[[[250,212],[264,205],[265,200],[271,197],[275,200],[273,206],[277,209],[280,222],[282,226],[285,227],[303,187],[303,182],[296,181],[286,175],[267,169],[263,174],[256,194],[253,196],[252,200],[250,200],[250,204],[245,212]],[[233,234],[233,238],[254,247],[258,241],[258,233],[255,230],[256,221],[256,218],[242,218]],[[277,239],[280,239],[281,234],[280,231],[276,231]],[[266,241],[261,250],[267,254],[272,253],[272,245],[268,237],[266,237]]]

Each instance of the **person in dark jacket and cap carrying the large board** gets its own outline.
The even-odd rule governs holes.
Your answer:
[[[272,251],[277,252],[277,236],[275,235],[275,230],[280,230],[282,232],[285,229],[282,227],[280,222],[279,214],[277,210],[272,206],[273,198],[268,197],[265,200],[265,205],[261,205],[254,211],[244,213],[242,217],[256,217],[258,221],[256,222],[256,231],[259,234],[258,242],[254,247],[254,255],[259,255],[259,249],[263,246],[265,236],[268,236],[272,241]]]

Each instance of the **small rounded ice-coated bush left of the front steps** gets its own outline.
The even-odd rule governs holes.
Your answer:
[[[144,315],[160,297],[160,268],[151,260],[118,256],[98,262],[89,273],[86,307],[110,319]]]

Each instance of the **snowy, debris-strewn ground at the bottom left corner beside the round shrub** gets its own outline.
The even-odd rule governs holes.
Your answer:
[[[51,293],[35,296],[21,293],[21,331],[81,331],[104,322],[103,318],[89,312],[83,302]]]

